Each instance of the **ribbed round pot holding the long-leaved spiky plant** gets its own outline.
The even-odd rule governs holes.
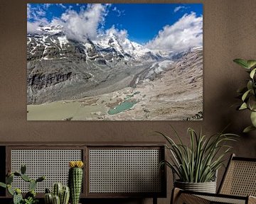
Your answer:
[[[216,193],[216,181],[210,181],[206,183],[187,183],[181,181],[175,181],[174,186],[187,191],[196,191],[203,193]]]

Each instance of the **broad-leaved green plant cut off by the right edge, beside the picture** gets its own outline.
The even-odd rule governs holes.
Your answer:
[[[247,79],[247,84],[242,89],[238,90],[242,103],[238,107],[238,110],[250,110],[250,119],[252,125],[248,126],[243,132],[249,132],[256,130],[256,60],[242,60],[235,59],[235,63],[246,69],[246,72],[250,75]]]

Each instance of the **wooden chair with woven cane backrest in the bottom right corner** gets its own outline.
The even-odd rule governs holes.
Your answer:
[[[256,159],[232,154],[218,193],[198,193],[174,188],[172,204],[256,203]]]

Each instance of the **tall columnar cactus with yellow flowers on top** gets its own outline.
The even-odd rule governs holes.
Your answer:
[[[82,188],[82,161],[69,162],[68,186],[71,204],[78,204]]]

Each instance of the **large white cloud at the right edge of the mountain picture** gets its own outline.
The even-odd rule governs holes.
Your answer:
[[[186,13],[176,23],[165,26],[153,40],[146,43],[152,50],[181,52],[203,45],[203,16]]]

